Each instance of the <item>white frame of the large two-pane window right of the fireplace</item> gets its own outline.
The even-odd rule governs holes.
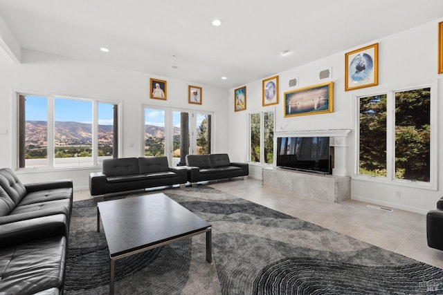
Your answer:
[[[431,89],[430,106],[430,124],[431,124],[431,143],[430,143],[430,180],[429,182],[402,180],[395,178],[395,93],[403,91],[412,91],[420,88]],[[363,175],[359,173],[360,166],[360,98],[375,95],[386,94],[386,177],[377,177]],[[362,93],[354,95],[354,130],[355,130],[355,157],[354,157],[354,175],[356,180],[365,180],[370,182],[379,182],[383,184],[395,184],[402,187],[412,187],[419,189],[428,189],[437,191],[438,184],[438,124],[437,124],[437,82],[428,82],[423,84],[411,84],[409,86],[399,86],[386,88],[383,91],[374,93]]]

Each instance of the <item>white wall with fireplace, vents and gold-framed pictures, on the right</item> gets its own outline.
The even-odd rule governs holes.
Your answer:
[[[316,131],[325,129],[352,129],[349,135],[347,148],[347,170],[352,176],[352,198],[383,206],[406,209],[425,213],[435,208],[435,202],[443,195],[443,136],[438,138],[439,157],[438,190],[417,189],[403,185],[386,184],[370,180],[358,180],[354,177],[356,171],[355,160],[355,127],[356,127],[356,96],[371,95],[379,91],[388,91],[392,88],[417,86],[423,83],[437,82],[437,97],[443,95],[443,75],[437,75],[437,21],[426,23],[411,30],[400,32],[383,39],[374,40],[368,44],[361,44],[357,48],[349,48],[346,52],[338,53],[323,59],[311,62],[304,66],[292,68],[279,76],[279,104],[275,106],[275,131]],[[379,43],[379,85],[361,88],[355,91],[345,91],[344,71],[345,53],[352,50]],[[327,44],[325,44],[327,46]],[[295,53],[296,54],[296,53]],[[282,57],[284,58],[284,57]],[[332,78],[320,80],[320,70],[332,68]],[[269,77],[272,77],[270,75]],[[267,77],[263,77],[265,79]],[[289,87],[289,80],[298,78],[300,84]],[[334,113],[307,115],[300,117],[284,117],[283,93],[305,86],[312,86],[323,82],[334,82]],[[244,85],[239,85],[244,86]],[[262,107],[262,80],[246,84],[246,111],[234,112],[233,89],[229,91],[229,138],[230,155],[238,160],[248,159],[248,113],[261,111]],[[443,113],[443,103],[438,102],[438,113]],[[438,128],[443,129],[442,120],[438,120]],[[244,126],[239,128],[239,126]],[[251,165],[251,175],[261,178],[260,165]],[[401,196],[396,197],[396,191]]]

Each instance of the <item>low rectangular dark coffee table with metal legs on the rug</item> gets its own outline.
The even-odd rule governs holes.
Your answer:
[[[116,260],[206,232],[206,260],[211,263],[211,226],[164,193],[110,200],[97,205],[109,248],[109,294],[114,294]]]

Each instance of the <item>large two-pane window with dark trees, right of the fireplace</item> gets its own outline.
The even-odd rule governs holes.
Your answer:
[[[359,97],[359,175],[431,183],[432,88],[409,88]]]

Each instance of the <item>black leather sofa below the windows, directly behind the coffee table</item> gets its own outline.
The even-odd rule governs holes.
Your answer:
[[[170,167],[166,157],[103,160],[102,172],[89,175],[91,196],[150,187],[186,184],[185,166]]]

